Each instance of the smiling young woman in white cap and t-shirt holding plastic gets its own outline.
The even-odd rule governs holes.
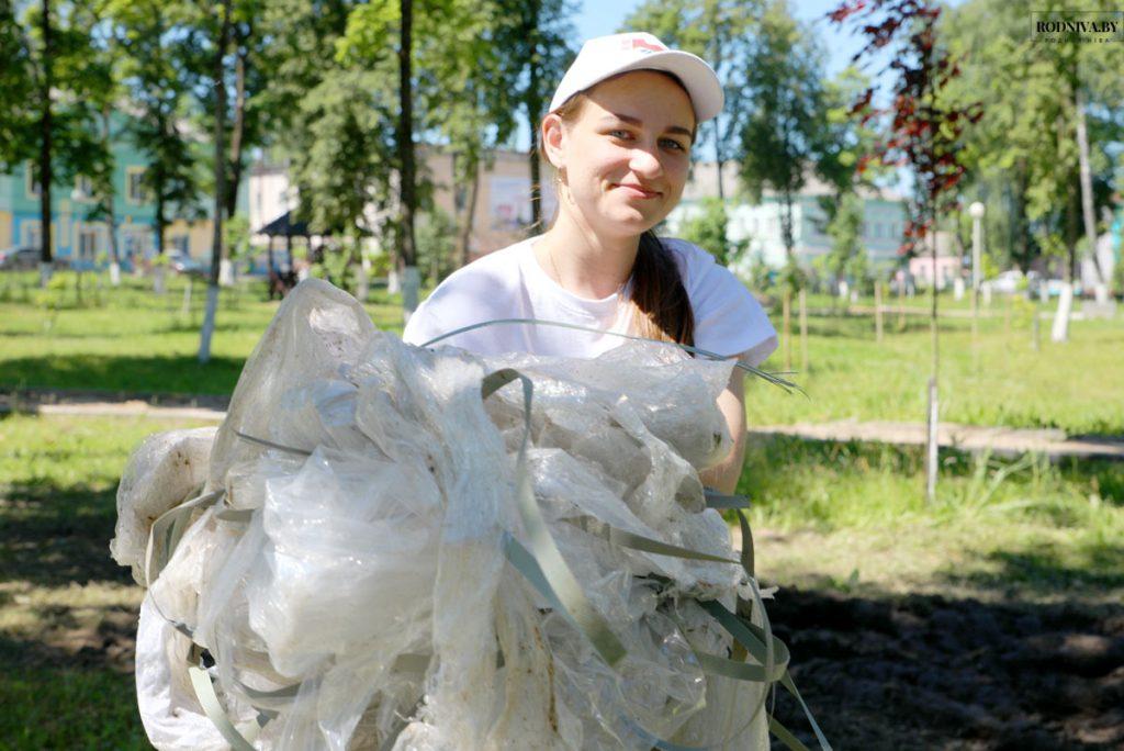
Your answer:
[[[497,325],[442,344],[593,358],[625,342],[610,333],[629,333],[761,363],[777,333],[753,296],[701,248],[651,232],[679,202],[699,124],[722,106],[710,66],[651,34],[587,42],[540,125],[555,168],[554,223],[450,275],[402,338],[423,344],[486,320],[537,318],[605,333]],[[745,451],[742,373],[718,399],[734,447],[703,478],[723,492],[734,490]]]

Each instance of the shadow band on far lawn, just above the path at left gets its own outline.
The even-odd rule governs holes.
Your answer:
[[[241,358],[211,358],[201,364],[194,355],[123,356],[57,354],[0,362],[0,386],[12,388],[90,389],[156,393],[229,393],[242,367]]]

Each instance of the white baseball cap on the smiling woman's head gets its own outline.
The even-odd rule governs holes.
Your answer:
[[[570,97],[607,78],[625,71],[656,70],[673,73],[683,82],[699,123],[722,111],[725,96],[718,75],[698,55],[669,49],[651,34],[613,34],[589,39],[581,45],[570,70],[562,76],[551,109],[554,111]]]

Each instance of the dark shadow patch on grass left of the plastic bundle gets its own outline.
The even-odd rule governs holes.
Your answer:
[[[129,570],[109,557],[116,521],[114,491],[49,483],[0,491],[0,581],[130,583]]]

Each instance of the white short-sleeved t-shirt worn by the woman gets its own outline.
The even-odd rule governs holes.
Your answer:
[[[420,345],[498,318],[536,318],[629,333],[629,286],[600,300],[566,291],[538,264],[533,252],[538,237],[489,253],[451,274],[410,316],[402,340]],[[724,356],[746,353],[742,360],[750,365],[764,361],[777,349],[777,332],[745,286],[697,245],[661,241],[679,265],[695,313],[695,346]],[[558,326],[500,324],[457,334],[435,346],[448,344],[483,355],[525,352],[596,358],[626,341]]]

